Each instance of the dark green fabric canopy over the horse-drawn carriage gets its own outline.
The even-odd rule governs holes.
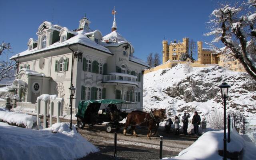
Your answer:
[[[98,104],[95,105],[95,109],[100,109],[100,104],[131,104],[133,102],[128,102],[125,100],[116,100],[116,99],[102,99],[102,100],[81,100],[78,104],[78,112],[76,117],[84,117],[87,107],[90,104]],[[121,106],[121,105],[120,105]],[[120,110],[120,108],[118,108]]]

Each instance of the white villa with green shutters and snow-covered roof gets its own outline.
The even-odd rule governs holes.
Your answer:
[[[73,107],[80,100],[109,98],[132,101],[130,109],[142,110],[143,72],[149,66],[133,56],[132,44],[116,31],[116,19],[106,36],[91,30],[88,18],[79,22],[76,30],[43,22],[38,40],[30,38],[28,49],[10,58],[18,62],[12,86],[20,100],[36,103],[41,94],[57,94],[68,107],[73,84]]]

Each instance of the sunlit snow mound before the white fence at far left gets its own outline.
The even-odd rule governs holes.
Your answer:
[[[0,108],[0,120],[16,125],[24,125],[26,128],[32,128],[36,124],[36,116],[21,112],[10,112],[5,108]]]

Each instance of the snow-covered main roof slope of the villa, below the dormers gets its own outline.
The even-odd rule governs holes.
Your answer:
[[[54,44],[50,45],[50,46],[47,46],[46,48],[43,48],[43,49],[40,49],[40,50],[37,50],[37,48],[34,48],[32,50],[25,50],[24,52],[20,52],[19,54],[16,54],[14,56],[12,56],[10,59],[13,59],[13,58],[18,58],[18,57],[22,57],[22,56],[27,56],[27,55],[30,55],[30,54],[34,54],[34,53],[37,53],[37,52],[42,52],[42,51],[46,51],[46,50],[52,50],[54,48],[59,48],[61,46],[68,46],[70,44],[84,44],[90,48],[93,48],[93,49],[96,49],[96,50],[100,50],[100,51],[103,51],[103,52],[106,52],[108,54],[112,54],[108,48],[105,48],[104,46],[101,46],[99,44],[97,44],[96,42],[90,40],[90,38],[88,38],[87,36],[85,36],[84,34],[82,33],[78,33],[76,36],[64,41],[64,42],[55,42]]]

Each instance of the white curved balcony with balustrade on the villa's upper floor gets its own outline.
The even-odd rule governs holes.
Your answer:
[[[110,73],[103,75],[102,83],[122,83],[128,84],[128,86],[138,86],[137,76],[124,73]]]

